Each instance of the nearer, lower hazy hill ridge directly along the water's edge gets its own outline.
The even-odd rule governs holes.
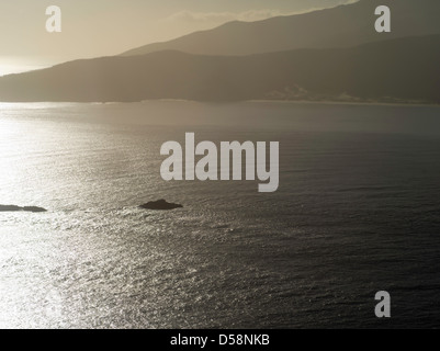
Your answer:
[[[251,56],[159,52],[0,78],[0,101],[417,100],[440,103],[440,35]]]

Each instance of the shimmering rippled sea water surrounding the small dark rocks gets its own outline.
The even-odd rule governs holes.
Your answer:
[[[0,213],[0,327],[439,327],[439,112],[0,104],[0,204],[48,210]],[[280,141],[279,191],[162,181],[185,132]]]

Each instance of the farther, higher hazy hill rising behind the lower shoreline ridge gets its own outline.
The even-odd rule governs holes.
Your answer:
[[[392,9],[392,33],[374,30],[377,5]],[[361,0],[305,14],[259,22],[230,22],[211,31],[146,45],[123,56],[173,49],[198,55],[250,55],[296,48],[349,47],[440,33],[439,0]]]

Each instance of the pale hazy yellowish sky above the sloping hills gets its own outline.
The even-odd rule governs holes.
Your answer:
[[[61,61],[111,56],[223,23],[258,21],[350,0],[1,0],[0,76]],[[63,32],[47,33],[58,5]]]

